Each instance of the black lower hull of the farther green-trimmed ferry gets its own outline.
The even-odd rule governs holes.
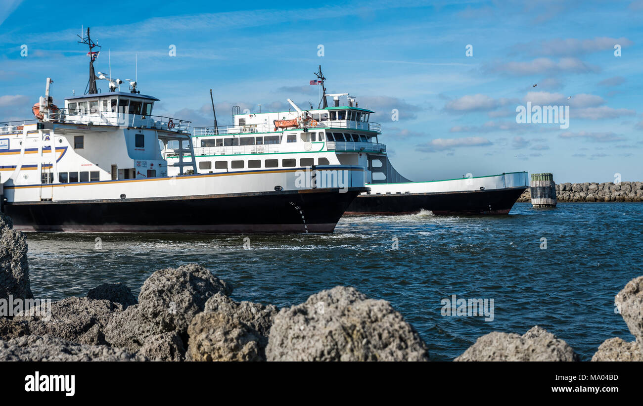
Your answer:
[[[345,214],[396,215],[424,209],[435,215],[506,215],[526,188],[359,195]]]

